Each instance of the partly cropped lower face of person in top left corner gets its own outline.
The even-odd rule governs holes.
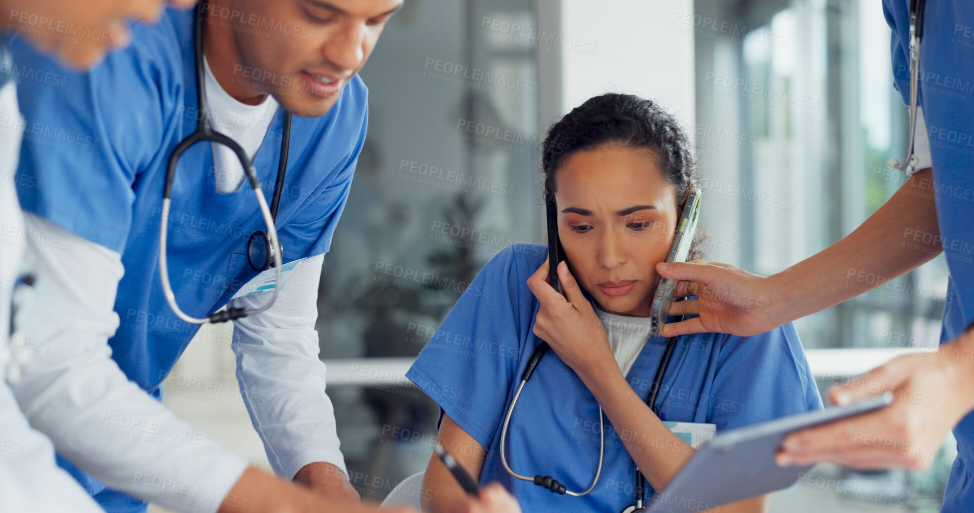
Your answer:
[[[0,22],[23,34],[64,64],[85,69],[113,48],[129,44],[128,21],[155,22],[166,4],[191,7],[196,0],[10,0]]]

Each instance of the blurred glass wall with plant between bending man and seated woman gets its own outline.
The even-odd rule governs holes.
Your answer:
[[[329,395],[363,497],[429,461],[438,408],[401,380],[411,359],[492,256],[535,241],[534,26],[525,0],[407,2],[361,72],[368,138],[325,259],[318,333],[345,384]]]

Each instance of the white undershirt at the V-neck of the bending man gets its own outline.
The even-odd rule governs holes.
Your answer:
[[[206,109],[213,129],[237,141],[253,160],[264,142],[264,136],[278,112],[278,100],[270,94],[260,105],[241,103],[223,90],[206,63]],[[232,193],[244,183],[244,167],[230,148],[213,144],[213,166],[216,168],[216,191]]]

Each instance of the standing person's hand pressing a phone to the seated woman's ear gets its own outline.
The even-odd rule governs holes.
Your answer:
[[[730,264],[694,260],[656,264],[656,273],[681,280],[675,298],[697,296],[670,305],[670,315],[698,315],[663,326],[663,337],[688,333],[749,336],[770,331],[791,319],[779,318],[782,295],[770,277],[752,275]],[[776,298],[775,302],[772,298]]]

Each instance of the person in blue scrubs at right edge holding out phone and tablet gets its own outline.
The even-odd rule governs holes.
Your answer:
[[[893,30],[894,86],[905,103],[910,102],[908,3],[883,0]],[[933,357],[901,356],[833,387],[830,394],[840,403],[883,390],[892,390],[895,400],[879,412],[793,434],[778,462],[925,468],[953,428],[957,458],[942,511],[960,513],[974,511],[974,3],[928,0],[923,27],[918,171],[862,226],[768,277],[726,264],[659,265],[657,271],[687,280],[681,290],[701,295],[674,304],[700,316],[667,326],[664,335],[748,335],[841,303],[861,293],[864,284],[903,275],[943,252],[951,276],[939,351]],[[723,298],[750,298],[770,311]]]

